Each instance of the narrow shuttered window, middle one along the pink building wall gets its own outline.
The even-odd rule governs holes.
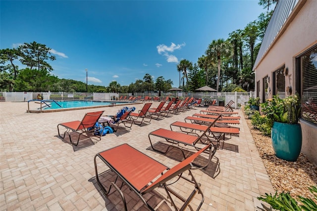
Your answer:
[[[285,65],[273,72],[273,91],[272,95],[278,95],[280,98],[285,98]]]

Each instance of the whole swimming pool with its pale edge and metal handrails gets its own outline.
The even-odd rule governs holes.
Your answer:
[[[34,101],[40,104],[37,109],[30,110],[29,102]],[[131,105],[140,102],[127,102],[127,101],[93,101],[93,100],[29,100],[28,110],[29,113],[45,113],[45,112],[57,112],[57,111],[69,111],[78,109],[90,109],[90,108],[101,108],[109,106],[123,106]]]

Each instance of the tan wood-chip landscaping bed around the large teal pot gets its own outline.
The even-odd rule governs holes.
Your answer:
[[[271,138],[253,129],[251,120],[246,119],[246,121],[274,190],[278,193],[290,192],[294,198],[300,195],[313,199],[314,196],[308,188],[317,186],[317,166],[309,162],[302,153],[296,162],[277,158],[274,155]]]

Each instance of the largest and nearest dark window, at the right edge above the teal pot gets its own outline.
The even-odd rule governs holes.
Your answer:
[[[317,45],[296,58],[302,119],[317,124]]]

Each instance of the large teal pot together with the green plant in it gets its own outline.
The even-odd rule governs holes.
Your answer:
[[[261,104],[272,125],[272,146],[276,157],[296,161],[302,148],[302,129],[298,124],[301,115],[301,100],[298,94],[285,99],[274,96]]]

